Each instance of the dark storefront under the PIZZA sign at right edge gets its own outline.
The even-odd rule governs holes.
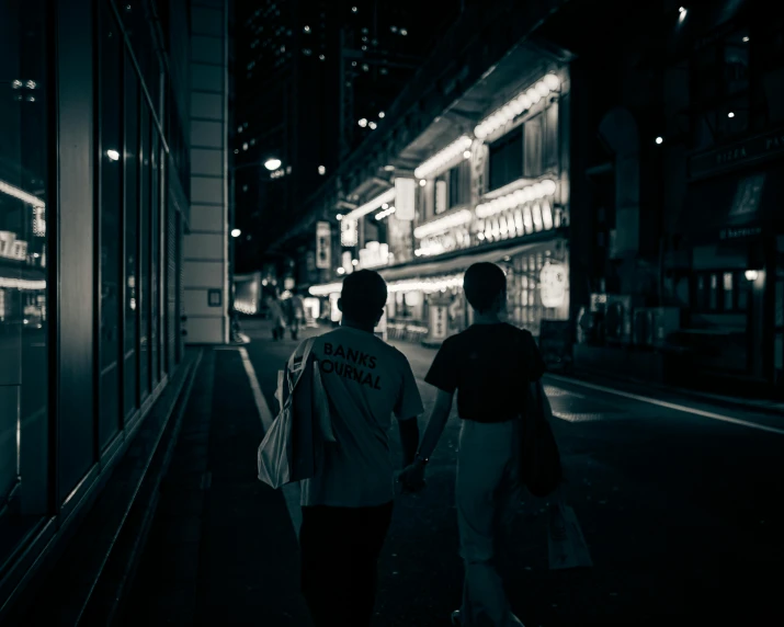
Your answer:
[[[674,273],[682,341],[706,375],[784,385],[784,130],[691,157]]]

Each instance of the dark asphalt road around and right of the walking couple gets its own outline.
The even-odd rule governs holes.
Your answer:
[[[274,407],[275,373],[295,342],[272,342],[264,323],[246,322],[243,330]],[[428,411],[434,391],[421,378],[434,351],[397,345],[419,378]],[[548,570],[546,502],[526,498],[504,570],[513,608],[529,627],[784,625],[784,417],[652,390],[651,402],[555,377],[546,379],[546,390],[568,501],[594,568]],[[378,627],[446,625],[459,604],[453,508],[458,429],[453,415],[427,490],[396,505],[380,562]],[[399,452],[396,430],[391,436]]]

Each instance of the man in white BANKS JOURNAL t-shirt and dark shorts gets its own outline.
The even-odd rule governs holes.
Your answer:
[[[302,482],[302,588],[317,627],[368,626],[378,555],[389,528],[395,471],[391,414],[405,465],[419,445],[422,400],[406,356],[373,330],[387,300],[377,272],[343,281],[340,328],[316,339],[314,354],[330,402],[336,444],[319,474]]]

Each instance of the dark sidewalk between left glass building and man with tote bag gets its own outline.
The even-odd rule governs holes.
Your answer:
[[[310,624],[284,497],[257,479],[261,437],[240,350],[205,351],[122,624]]]

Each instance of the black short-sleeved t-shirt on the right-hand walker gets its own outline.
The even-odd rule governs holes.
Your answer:
[[[457,390],[461,418],[503,422],[520,415],[525,386],[544,372],[529,331],[507,323],[474,324],[446,339],[424,380],[446,392]]]

